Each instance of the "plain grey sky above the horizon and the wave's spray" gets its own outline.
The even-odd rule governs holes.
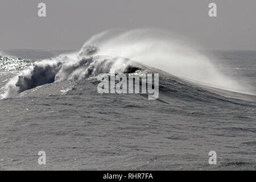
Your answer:
[[[47,17],[38,17],[38,3]],[[210,2],[217,17],[208,16]],[[0,50],[79,49],[110,28],[177,32],[206,49],[256,49],[255,0],[1,0]]]

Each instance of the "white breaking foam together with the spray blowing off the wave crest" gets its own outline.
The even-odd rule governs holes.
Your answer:
[[[248,86],[224,76],[206,56],[168,32],[134,30],[112,34],[113,31],[105,31],[93,36],[79,52],[36,61],[6,84],[3,98],[52,82],[134,71],[130,67],[135,68],[138,64],[163,70],[181,80],[250,93],[244,89]]]

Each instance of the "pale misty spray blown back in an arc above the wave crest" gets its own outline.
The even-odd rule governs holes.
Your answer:
[[[89,39],[80,51],[94,45],[92,55],[127,57],[177,77],[235,92],[252,93],[250,86],[217,70],[207,56],[196,51],[191,41],[160,30],[105,31]]]

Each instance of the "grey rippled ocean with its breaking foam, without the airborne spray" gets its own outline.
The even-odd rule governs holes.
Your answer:
[[[67,52],[9,50],[0,58],[1,170],[255,170],[255,51],[210,52],[214,69],[250,85],[245,97],[159,70],[157,100],[99,94],[96,76],[114,59],[69,64]]]

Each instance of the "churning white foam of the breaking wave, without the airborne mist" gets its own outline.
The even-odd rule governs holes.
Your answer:
[[[6,84],[7,92],[2,98],[13,97],[25,90],[52,82],[81,80],[113,71],[132,73],[140,69],[129,62],[131,63],[130,60],[121,57],[95,56],[78,59],[73,55],[61,55],[54,59],[38,61]]]

